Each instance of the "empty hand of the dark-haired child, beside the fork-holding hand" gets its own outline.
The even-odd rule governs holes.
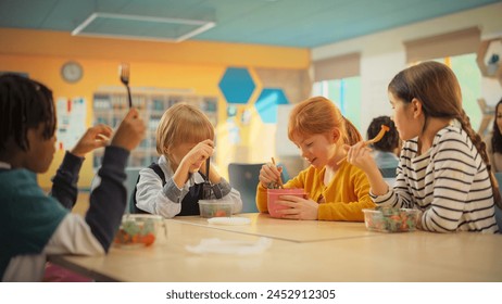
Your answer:
[[[90,127],[70,153],[78,157],[84,157],[88,152],[106,145],[112,134],[112,128],[105,125]]]

